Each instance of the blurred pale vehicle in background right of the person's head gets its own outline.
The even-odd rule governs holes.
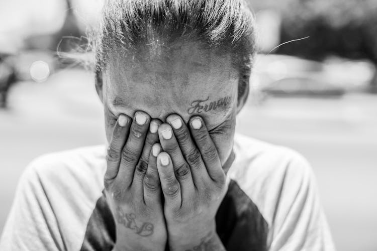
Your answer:
[[[376,69],[369,61],[328,57],[323,62],[285,55],[259,54],[255,60],[253,90],[289,96],[339,97],[347,91],[365,91]]]

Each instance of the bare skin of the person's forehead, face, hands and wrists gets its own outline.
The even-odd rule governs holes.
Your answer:
[[[105,192],[116,221],[114,249],[224,249],[215,215],[243,105],[238,81],[230,55],[195,43],[109,57],[97,91],[109,142]]]

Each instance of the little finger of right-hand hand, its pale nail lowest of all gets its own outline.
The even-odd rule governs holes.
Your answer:
[[[180,207],[182,203],[180,185],[175,178],[170,156],[165,152],[161,152],[157,156],[156,163],[162,192],[165,198],[165,205],[168,207]]]

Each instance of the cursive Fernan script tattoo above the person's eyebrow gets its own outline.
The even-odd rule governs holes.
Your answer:
[[[207,102],[210,99],[208,96],[206,99],[197,99],[191,102],[191,107],[187,109],[187,113],[201,113],[208,112],[210,110],[229,110],[232,103],[231,96],[222,97],[217,101]]]

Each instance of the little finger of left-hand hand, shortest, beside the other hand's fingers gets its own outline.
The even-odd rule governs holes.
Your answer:
[[[149,156],[147,172],[144,176],[144,202],[147,205],[158,203],[161,201],[160,178],[157,171],[157,156],[161,152],[161,145],[156,143],[152,146]]]

